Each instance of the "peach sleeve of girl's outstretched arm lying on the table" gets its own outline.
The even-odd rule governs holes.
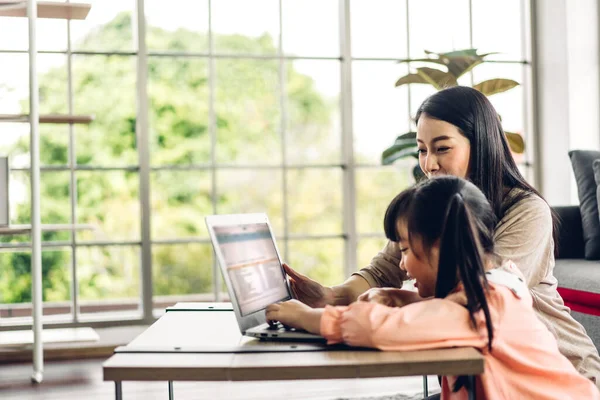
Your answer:
[[[321,316],[320,334],[331,344],[345,342],[382,350],[487,344],[487,335],[472,328],[468,311],[443,299],[402,308],[363,302],[348,307],[328,306]]]

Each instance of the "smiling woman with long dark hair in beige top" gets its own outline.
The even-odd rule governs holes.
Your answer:
[[[416,122],[423,172],[429,178],[444,174],[466,178],[485,194],[499,221],[494,231],[496,254],[512,260],[525,275],[534,310],[554,334],[560,352],[600,385],[598,351],[556,290],[552,212],[519,172],[492,104],[475,89],[452,87],[426,99]],[[323,307],[349,304],[370,288],[400,288],[407,279],[397,268],[401,257],[398,246],[388,242],[367,267],[331,288],[285,267],[297,298]],[[421,300],[399,289],[374,289],[363,299],[395,306]]]

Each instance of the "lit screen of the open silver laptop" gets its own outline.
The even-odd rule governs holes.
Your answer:
[[[214,232],[242,316],[290,297],[269,225],[215,226]]]

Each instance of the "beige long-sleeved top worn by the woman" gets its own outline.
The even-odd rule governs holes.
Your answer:
[[[538,196],[520,200],[498,223],[494,237],[496,253],[504,260],[514,261],[525,275],[536,314],[556,337],[560,352],[600,387],[598,351],[556,290],[550,207]],[[406,279],[398,267],[400,257],[398,246],[388,242],[371,264],[356,274],[371,287],[399,288]]]

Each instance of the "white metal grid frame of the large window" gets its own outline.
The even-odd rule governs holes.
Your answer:
[[[136,31],[132,32],[136,42],[134,44],[134,51],[78,51],[73,50],[71,47],[71,22],[67,23],[67,48],[65,51],[40,51],[39,53],[48,54],[64,54],[67,56],[67,76],[68,76],[68,111],[70,114],[73,113],[73,71],[72,62],[73,57],[77,55],[120,55],[123,57],[134,57],[137,58],[136,63],[136,75],[137,75],[137,86],[136,86],[136,102],[137,102],[137,126],[136,133],[138,137],[138,165],[129,165],[118,168],[107,168],[97,166],[82,166],[76,164],[75,154],[75,132],[73,125],[69,125],[69,163],[64,166],[42,166],[42,171],[68,171],[70,173],[70,204],[71,204],[71,221],[75,223],[77,221],[77,198],[73,195],[76,193],[77,187],[77,174],[79,171],[123,171],[123,172],[136,172],[139,174],[139,194],[140,194],[140,210],[141,210],[141,237],[140,240],[133,241],[105,241],[105,242],[81,242],[77,240],[76,230],[73,227],[71,231],[71,240],[63,242],[43,242],[42,249],[70,249],[71,250],[71,300],[70,300],[70,314],[63,314],[58,317],[44,316],[44,325],[46,326],[108,326],[108,325],[124,325],[124,324],[136,324],[136,323],[151,323],[160,315],[160,311],[155,309],[154,303],[157,297],[153,295],[153,281],[152,281],[152,246],[153,245],[169,245],[169,244],[190,244],[190,243],[210,243],[208,238],[181,238],[181,239],[163,239],[163,240],[152,240],[151,238],[151,188],[150,180],[151,173],[163,170],[190,170],[190,171],[208,171],[212,178],[212,211],[217,213],[217,194],[218,194],[218,182],[217,172],[225,169],[245,169],[245,168],[266,168],[272,170],[280,170],[283,174],[282,180],[282,193],[283,193],[283,226],[284,231],[282,232],[281,238],[278,238],[280,250],[282,256],[287,258],[289,254],[289,242],[293,240],[303,239],[331,239],[336,238],[344,241],[344,259],[341,260],[343,264],[344,276],[350,276],[350,274],[357,270],[357,248],[361,239],[373,239],[383,238],[381,232],[358,232],[357,221],[356,221],[356,207],[357,207],[357,195],[356,195],[356,171],[361,169],[384,169],[391,167],[383,167],[377,164],[362,164],[356,163],[354,159],[354,134],[353,134],[353,108],[352,108],[352,66],[355,61],[377,61],[377,62],[397,62],[399,59],[394,58],[357,58],[352,56],[352,44],[351,44],[351,0],[335,0],[339,3],[339,26],[340,26],[340,56],[339,57],[296,57],[284,54],[283,51],[283,12],[282,3],[283,0],[278,0],[279,7],[279,44],[277,53],[274,55],[248,55],[248,54],[219,54],[214,49],[214,38],[212,30],[212,1],[208,0],[208,39],[209,47],[206,53],[177,53],[177,52],[166,52],[166,51],[149,51],[146,46],[146,18],[144,14],[144,0],[136,0],[135,10],[132,18],[135,21],[132,25]],[[416,0],[405,0],[406,5],[406,52],[407,58],[410,54],[410,2]],[[532,37],[534,32],[531,31],[531,16],[530,16],[530,0],[521,0],[521,23],[522,26],[522,49],[523,58],[521,60],[509,60],[509,61],[496,61],[498,63],[519,63],[523,65],[523,118],[525,131],[525,141],[528,144],[528,152],[525,155],[525,172],[526,178],[530,181],[534,178],[535,168],[530,160],[533,159],[533,150],[535,148],[535,135],[533,127],[533,113],[532,113],[532,68],[531,68],[531,55],[529,49],[531,48]],[[469,1],[469,22],[470,22],[470,41],[473,44],[473,20],[472,20],[472,1]],[[414,23],[414,22],[413,22]],[[7,54],[18,54],[26,53],[26,50],[2,50],[0,53]],[[149,118],[148,118],[148,58],[149,57],[197,57],[200,59],[206,59],[208,61],[208,76],[209,76],[209,137],[210,137],[210,148],[211,148],[211,160],[208,164],[203,165],[188,165],[188,166],[152,166],[150,157],[150,137],[149,137]],[[243,59],[260,59],[260,60],[276,60],[279,63],[279,101],[281,106],[281,121],[280,121],[280,134],[281,134],[281,152],[282,162],[280,165],[224,165],[217,163],[215,159],[215,150],[217,147],[216,143],[216,113],[215,113],[215,61],[218,59],[227,58],[243,58]],[[305,60],[305,59],[323,59],[323,60],[334,60],[339,61],[340,67],[340,119],[341,119],[341,160],[339,164],[330,165],[291,165],[285,160],[287,152],[287,132],[286,123],[288,117],[288,110],[286,107],[286,63],[290,60]],[[410,67],[410,64],[409,64]],[[408,96],[408,114],[407,118],[410,120],[413,115],[411,109],[411,90],[410,85],[407,90]],[[408,165],[408,164],[407,164]],[[287,172],[296,168],[336,168],[342,171],[342,221],[343,231],[341,234],[335,235],[294,235],[289,230],[289,197],[288,191],[286,190],[289,182],[287,179]],[[29,171],[28,168],[13,168],[12,170],[23,170]],[[400,188],[399,188],[400,189]],[[110,315],[94,315],[81,313],[81,299],[79,296],[79,289],[77,284],[77,250],[86,246],[139,246],[141,254],[141,271],[140,277],[140,298],[139,307],[137,311],[130,313],[114,314]],[[19,251],[30,248],[30,243],[6,243],[0,244],[0,251]],[[224,298],[220,292],[222,287],[222,279],[220,276],[220,269],[216,264],[216,260],[213,257],[212,262],[212,274],[213,274],[213,293],[212,297],[208,297],[209,301],[223,301]],[[182,299],[189,298],[190,296],[182,295],[179,296]],[[167,300],[165,300],[167,301]],[[44,303],[46,305],[46,302]],[[10,304],[0,306],[0,315],[10,309]],[[20,306],[23,306],[21,304]],[[31,317],[22,318],[2,318],[0,319],[0,327],[2,329],[22,329],[31,325]]]

